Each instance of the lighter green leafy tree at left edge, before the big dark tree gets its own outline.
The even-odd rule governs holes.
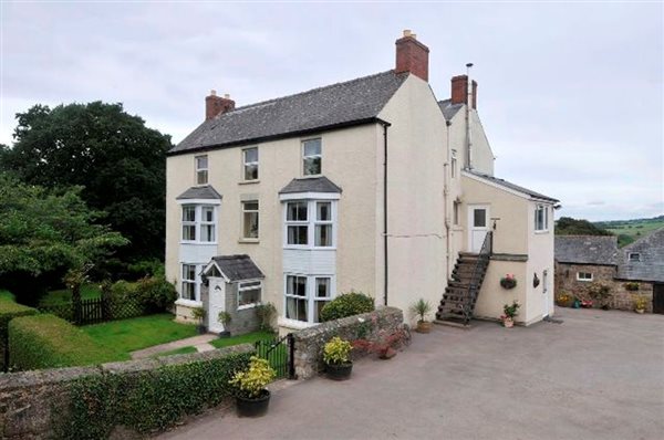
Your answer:
[[[79,196],[29,186],[0,172],[0,285],[34,303],[71,269],[96,263],[128,243],[100,224]]]

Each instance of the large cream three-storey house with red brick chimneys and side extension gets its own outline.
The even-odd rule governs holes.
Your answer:
[[[206,97],[167,158],[178,319],[204,306],[210,329],[226,311],[248,331],[273,303],[289,332],[351,290],[403,310],[423,297],[440,319],[497,318],[512,300],[523,324],[553,313],[558,200],[494,176],[477,82],[454,76],[437,99],[428,56],[404,31],[388,71],[241,107]]]

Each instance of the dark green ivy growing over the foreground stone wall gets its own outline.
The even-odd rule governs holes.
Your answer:
[[[173,427],[187,415],[219,405],[232,395],[228,384],[252,353],[167,365],[135,374],[103,374],[73,381],[71,406],[59,417],[56,437],[105,439],[115,426],[139,433]],[[190,355],[181,355],[190,356]]]

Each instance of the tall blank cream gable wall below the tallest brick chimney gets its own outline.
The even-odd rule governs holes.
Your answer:
[[[392,124],[387,177],[388,304],[407,312],[417,298],[424,297],[435,310],[447,283],[445,119],[428,83],[414,75],[408,76],[378,117]],[[382,164],[382,157],[378,163]]]

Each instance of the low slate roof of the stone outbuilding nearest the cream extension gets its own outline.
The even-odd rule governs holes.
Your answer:
[[[554,255],[559,263],[618,264],[614,235],[556,235]]]

